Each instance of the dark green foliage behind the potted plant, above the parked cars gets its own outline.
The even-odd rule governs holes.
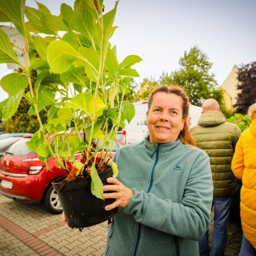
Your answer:
[[[21,73],[22,70],[19,69],[18,72]],[[37,72],[32,70],[31,75],[32,85],[34,86],[37,79]],[[27,87],[25,89],[25,93],[28,91],[29,88]],[[4,133],[35,133],[39,129],[39,123],[36,116],[28,115],[29,110],[30,105],[28,104],[28,100],[26,98],[22,98],[14,116],[6,121]],[[46,123],[47,112],[42,110],[40,112],[40,116],[43,123]]]

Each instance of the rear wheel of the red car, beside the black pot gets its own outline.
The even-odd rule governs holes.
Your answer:
[[[62,207],[60,205],[60,200],[58,200],[58,195],[53,189],[53,186],[49,186],[45,194],[45,199],[43,200],[43,206],[47,211],[53,214],[62,213]]]

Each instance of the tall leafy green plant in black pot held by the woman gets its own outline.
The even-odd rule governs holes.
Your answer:
[[[103,0],[75,0],[74,7],[62,3],[58,16],[36,3],[38,9],[26,6],[25,0],[0,0],[0,22],[14,25],[0,29],[0,62],[22,69],[22,73],[1,78],[1,87],[10,97],[0,103],[0,115],[3,120],[9,119],[25,97],[31,105],[28,114],[36,115],[40,126],[28,147],[46,164],[54,158],[68,173],[62,178],[65,181],[55,182],[59,183],[55,186],[57,192],[66,191],[72,182],[74,190],[77,183],[87,180],[93,197],[104,202],[102,181],[117,175],[117,167],[113,164],[110,174],[102,179],[99,173],[109,169],[107,163],[118,128],[135,114],[133,104],[125,101],[124,95],[131,88],[131,77],[139,76],[131,66],[141,58],[130,55],[118,63],[116,46],[110,44],[116,30],[113,24],[118,2],[107,13]],[[37,71],[34,87],[32,70]],[[30,90],[25,94],[26,87]],[[42,110],[47,111],[47,123],[41,121]],[[81,153],[79,159],[75,158],[77,152]],[[92,208],[80,195],[74,197],[82,205],[79,211]],[[68,198],[74,201],[73,196]],[[62,207],[65,213],[72,209],[66,202]],[[77,223],[74,219],[87,217],[74,213],[74,209],[66,213],[72,228],[82,229],[109,217],[98,220],[98,210],[92,209],[95,222]]]

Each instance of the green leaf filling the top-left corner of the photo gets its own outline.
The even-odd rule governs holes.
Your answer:
[[[24,21],[25,2],[25,0],[0,0],[1,11],[9,17],[18,32],[20,32],[24,37],[26,37]]]

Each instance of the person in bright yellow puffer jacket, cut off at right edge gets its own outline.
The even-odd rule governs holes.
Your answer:
[[[251,125],[238,140],[231,164],[234,175],[242,179],[240,256],[256,255],[256,103],[249,107],[248,116]]]

